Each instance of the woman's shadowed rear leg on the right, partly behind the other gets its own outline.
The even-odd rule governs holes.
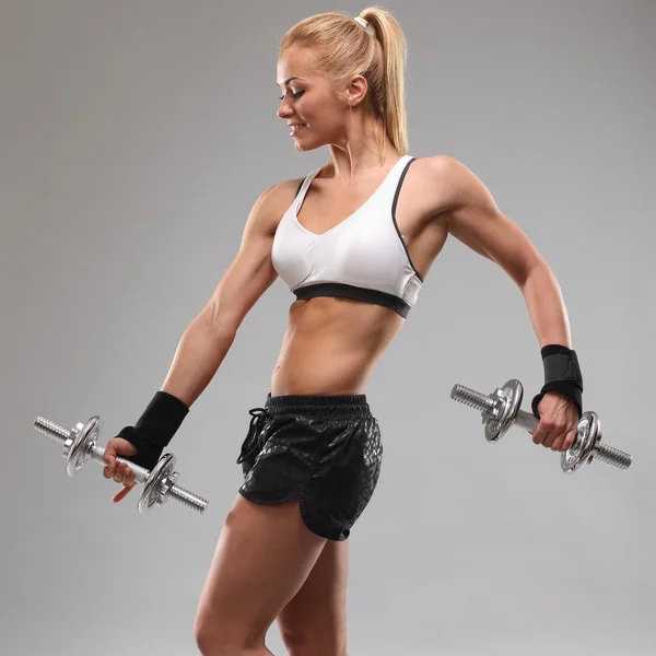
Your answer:
[[[348,570],[348,540],[329,540],[303,587],[278,616],[290,656],[347,656]]]

